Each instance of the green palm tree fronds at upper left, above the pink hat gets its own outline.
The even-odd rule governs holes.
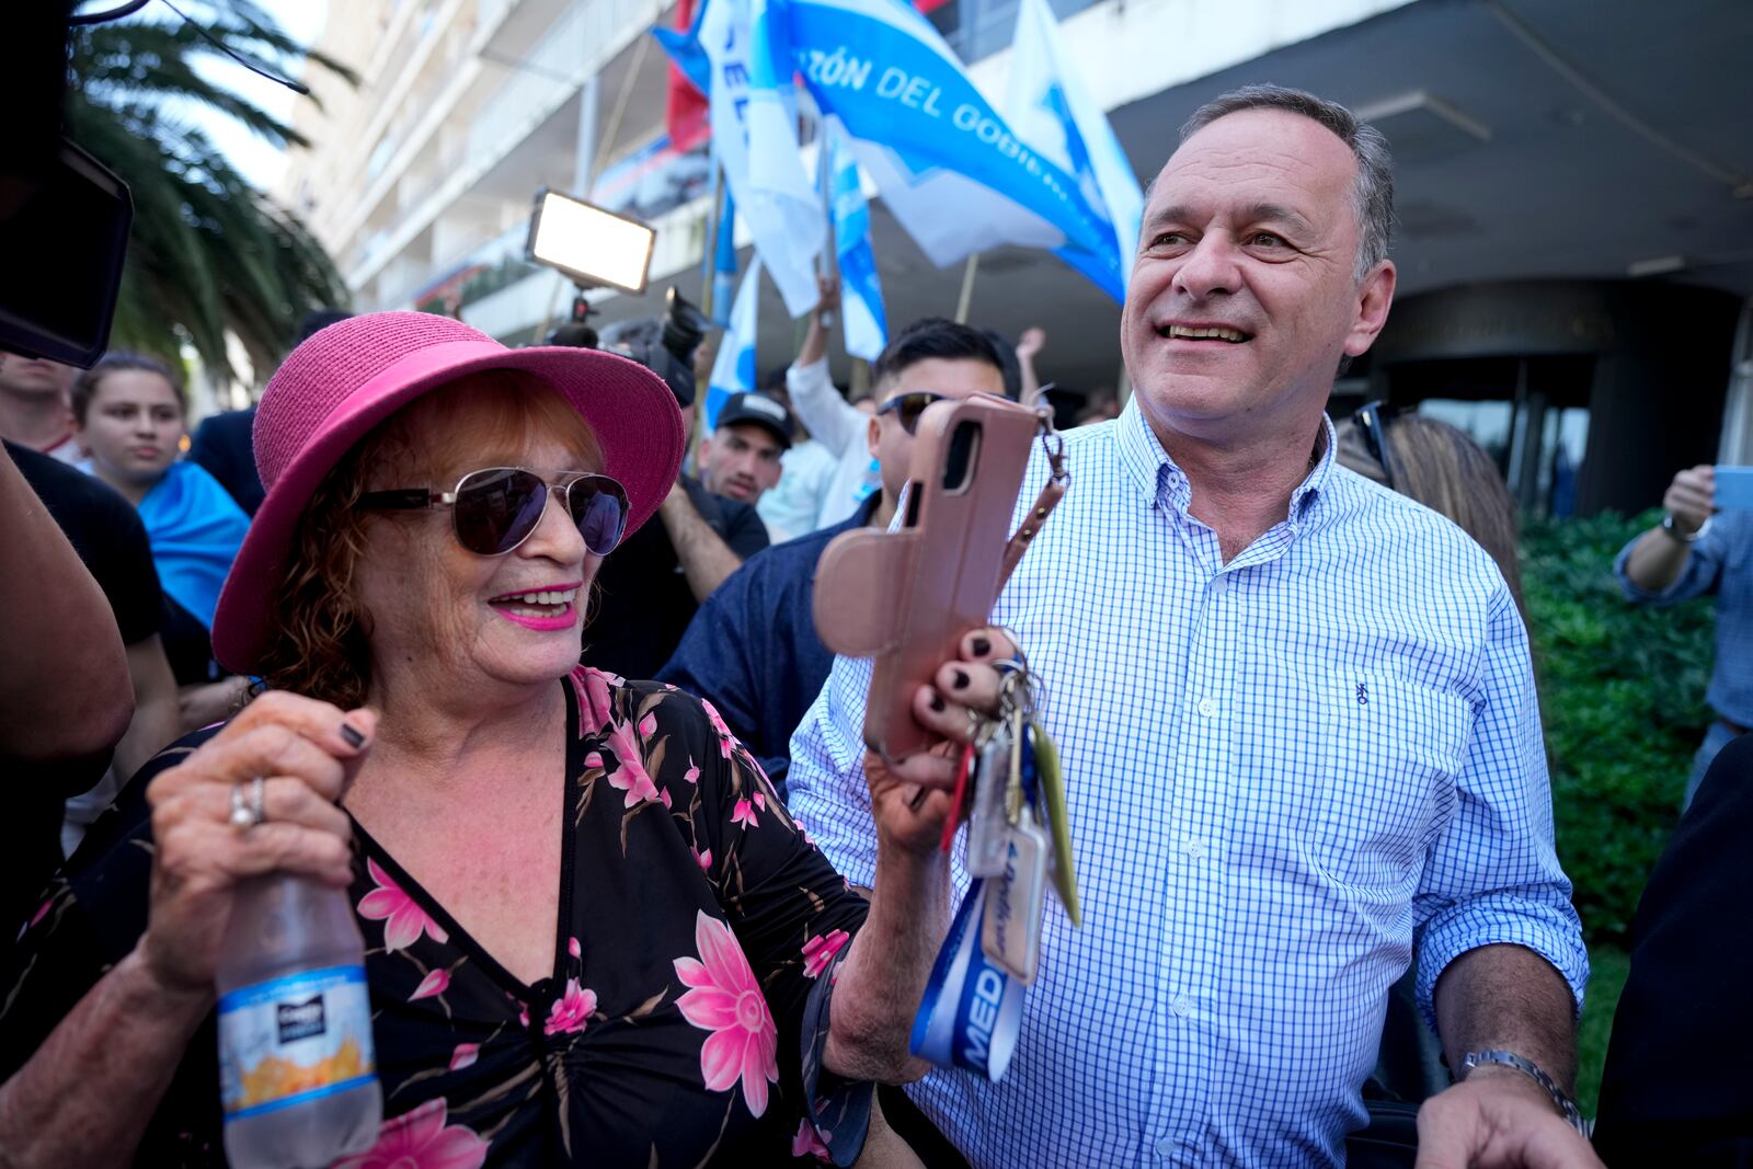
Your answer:
[[[214,40],[258,68],[286,75],[310,60],[354,82],[338,61],[286,37],[249,0],[205,0]],[[233,379],[226,333],[251,365],[270,368],[300,317],[340,307],[347,287],[323,247],[289,210],[273,205],[182,110],[217,110],[268,142],[305,145],[291,126],[196,72],[221,49],[188,19],[124,19],[75,30],[67,135],[114,170],[133,193],[133,233],[123,268],[117,347],[177,359],[188,342],[219,379]]]

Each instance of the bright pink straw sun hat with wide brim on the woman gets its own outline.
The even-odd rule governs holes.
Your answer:
[[[373,312],[295,349],[256,407],[256,470],[268,489],[214,613],[214,655],[256,673],[298,517],[354,443],[421,394],[482,370],[521,370],[578,412],[628,489],[628,535],[652,517],[682,466],[682,414],[663,379],[594,349],[507,349],[461,321]]]

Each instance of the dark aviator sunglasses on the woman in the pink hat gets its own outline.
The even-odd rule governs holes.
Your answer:
[[[505,556],[536,529],[552,492],[566,503],[566,512],[578,524],[584,547],[596,556],[608,556],[628,528],[626,487],[608,475],[578,471],[554,471],[554,475],[573,478],[556,487],[536,471],[521,466],[489,466],[456,480],[452,491],[429,487],[366,491],[359,496],[359,507],[382,512],[447,507],[458,543],[477,556]]]

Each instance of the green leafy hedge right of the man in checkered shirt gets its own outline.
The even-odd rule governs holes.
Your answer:
[[[1529,521],[1522,536],[1558,859],[1590,945],[1629,946],[1711,720],[1711,601],[1634,606],[1613,578],[1613,557],[1657,519]]]

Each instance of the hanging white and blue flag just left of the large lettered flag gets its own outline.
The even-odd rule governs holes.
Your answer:
[[[787,312],[801,317],[819,300],[815,258],[827,224],[798,151],[791,56],[771,7],[771,0],[710,0],[699,44],[712,65],[712,145],[724,181]]]

